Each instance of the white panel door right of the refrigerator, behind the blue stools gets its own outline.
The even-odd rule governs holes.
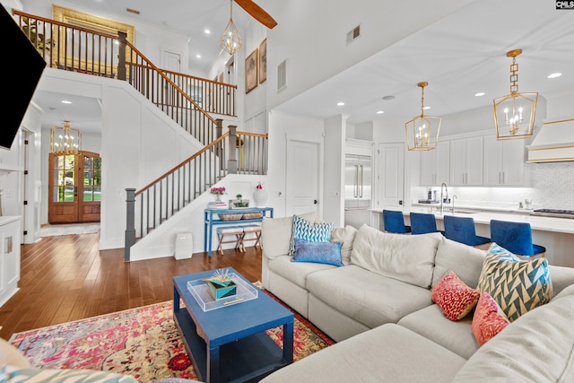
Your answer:
[[[404,205],[404,144],[378,144],[378,209]]]

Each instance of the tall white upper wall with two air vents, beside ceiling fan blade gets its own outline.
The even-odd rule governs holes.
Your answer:
[[[269,109],[471,2],[258,1],[278,23],[267,33]],[[359,24],[361,38],[347,45],[347,32]],[[288,85],[278,92],[277,65],[285,59]]]

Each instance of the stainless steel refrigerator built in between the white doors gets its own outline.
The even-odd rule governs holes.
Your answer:
[[[370,223],[372,158],[347,154],[344,165],[344,223],[356,228]]]

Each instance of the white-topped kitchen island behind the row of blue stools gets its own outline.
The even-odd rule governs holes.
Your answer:
[[[432,207],[436,209],[436,206]],[[437,229],[439,231],[444,230],[442,217],[443,215],[453,215],[451,211],[452,206],[445,205],[443,214],[436,210],[431,212],[432,207],[413,205],[410,209],[404,208],[404,223],[410,223],[409,213],[411,212],[434,213],[437,219]],[[382,211],[372,209],[371,212],[381,215]],[[548,258],[548,262],[551,265],[574,267],[574,219],[530,215],[526,211],[525,213],[500,213],[495,211],[474,213],[466,209],[464,213],[455,210],[454,215],[472,217],[476,227],[476,235],[488,238],[491,237],[491,220],[528,222],[532,228],[533,242],[546,248],[545,257]],[[379,229],[382,229],[382,227],[379,227]]]

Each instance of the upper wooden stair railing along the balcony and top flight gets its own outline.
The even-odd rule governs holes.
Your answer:
[[[12,13],[49,67],[129,82],[202,144],[215,138],[215,120],[203,105],[210,113],[234,116],[237,85],[162,70],[126,41],[125,33]]]

